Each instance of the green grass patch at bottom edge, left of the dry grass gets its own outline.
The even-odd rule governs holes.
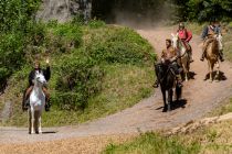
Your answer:
[[[125,144],[109,144],[103,154],[196,154],[199,151],[196,142],[186,144],[178,138],[145,133]]]

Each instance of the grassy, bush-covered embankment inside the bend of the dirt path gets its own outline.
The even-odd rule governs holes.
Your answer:
[[[39,26],[39,25],[38,25]],[[152,94],[154,48],[128,28],[93,21],[41,24],[42,37],[29,44],[25,63],[14,73],[4,94],[13,102],[11,118],[1,125],[27,127],[21,111],[22,92],[32,61],[51,59],[49,82],[52,108],[43,114],[43,125],[77,124],[118,112]]]

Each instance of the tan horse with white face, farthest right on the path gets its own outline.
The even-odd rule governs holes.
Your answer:
[[[220,64],[219,64],[219,50],[222,48],[222,35],[214,35],[212,41],[208,44],[205,50],[205,58],[208,61],[210,80],[213,81],[213,68],[217,66],[215,78],[219,77]]]

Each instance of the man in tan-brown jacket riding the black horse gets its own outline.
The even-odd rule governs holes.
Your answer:
[[[177,77],[177,84],[179,87],[182,87],[182,79],[180,76],[180,66],[177,63],[177,59],[179,57],[179,53],[173,48],[171,45],[171,40],[166,40],[166,50],[162,51],[160,64],[162,65],[170,65],[171,68],[173,68],[173,73]],[[159,87],[159,80],[156,80],[154,84],[155,88]]]

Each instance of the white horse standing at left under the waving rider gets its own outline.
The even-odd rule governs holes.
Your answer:
[[[45,95],[43,94],[43,85],[46,84],[41,73],[35,74],[34,87],[30,96],[29,108],[29,133],[42,133],[41,116],[45,106]]]

